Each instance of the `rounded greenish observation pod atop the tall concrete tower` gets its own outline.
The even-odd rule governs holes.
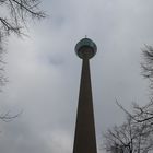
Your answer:
[[[75,46],[76,55],[82,59],[90,59],[95,56],[97,47],[93,40],[90,38],[81,39]]]

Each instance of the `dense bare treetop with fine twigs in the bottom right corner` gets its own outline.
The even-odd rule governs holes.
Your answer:
[[[153,150],[152,132],[152,125],[138,123],[128,116],[121,126],[115,126],[104,134],[104,149],[110,153],[148,153]]]

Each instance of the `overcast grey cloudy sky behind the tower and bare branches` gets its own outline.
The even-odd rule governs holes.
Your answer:
[[[152,0],[45,0],[49,17],[30,25],[30,38],[11,36],[0,94],[1,113],[23,110],[0,122],[1,153],[72,153],[81,59],[75,44],[87,35],[97,45],[91,60],[98,148],[107,128],[121,123],[131,102],[148,103],[140,75],[144,44],[153,45]],[[103,152],[98,149],[98,152]]]

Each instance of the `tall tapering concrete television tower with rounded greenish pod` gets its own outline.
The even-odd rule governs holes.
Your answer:
[[[90,59],[95,56],[96,50],[95,43],[86,37],[75,46],[75,52],[82,59],[82,74],[73,153],[97,153],[90,74]]]

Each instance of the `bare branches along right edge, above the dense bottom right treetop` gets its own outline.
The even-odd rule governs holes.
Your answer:
[[[141,63],[142,75],[150,82],[151,96],[144,106],[133,105],[133,119],[138,122],[153,123],[153,47],[145,45],[142,49],[143,62]]]

